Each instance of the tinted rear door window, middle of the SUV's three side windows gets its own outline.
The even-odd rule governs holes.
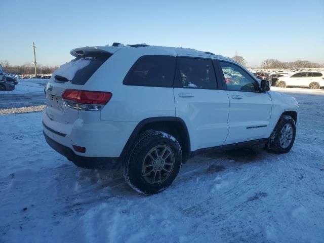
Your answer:
[[[212,60],[179,57],[175,87],[209,90],[217,89]]]

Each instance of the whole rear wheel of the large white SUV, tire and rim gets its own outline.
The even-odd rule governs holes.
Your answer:
[[[148,130],[140,134],[123,161],[123,174],[137,192],[155,194],[172,184],[181,163],[179,142],[170,134]]]

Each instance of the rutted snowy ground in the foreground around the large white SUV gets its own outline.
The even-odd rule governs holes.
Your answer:
[[[291,95],[289,153],[196,156],[152,196],[53,151],[40,112],[0,115],[0,242],[323,242],[324,92]]]

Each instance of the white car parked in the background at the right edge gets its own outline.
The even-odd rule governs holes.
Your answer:
[[[277,87],[308,87],[320,89],[324,87],[324,75],[321,72],[297,72],[292,76],[282,76],[277,80]]]

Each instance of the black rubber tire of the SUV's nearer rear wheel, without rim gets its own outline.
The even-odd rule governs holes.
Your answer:
[[[170,173],[168,173],[168,176],[165,176],[165,180],[158,184],[154,184],[148,182],[147,177],[144,176],[145,169],[143,169],[143,165],[146,163],[145,159],[147,158],[148,153],[158,146],[165,146],[172,151],[174,163],[172,169],[170,169]],[[148,195],[155,194],[165,190],[172,184],[180,171],[181,163],[182,151],[179,142],[170,134],[166,134],[161,131],[148,130],[139,135],[130,149],[128,156],[123,161],[123,174],[126,182],[135,191]],[[157,174],[154,171],[152,173],[153,174],[150,175],[153,175],[153,180],[155,180],[155,176]],[[163,175],[161,173],[166,172],[163,171],[163,169],[160,170],[160,179]]]

